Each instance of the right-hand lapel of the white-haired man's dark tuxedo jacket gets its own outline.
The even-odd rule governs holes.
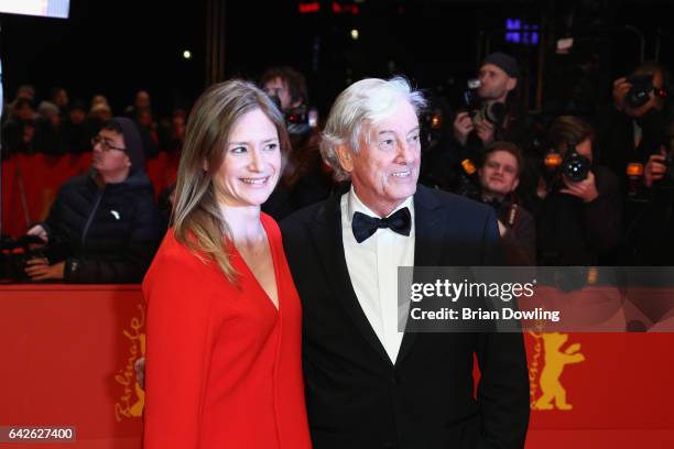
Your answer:
[[[442,204],[431,191],[418,185],[414,195],[414,266],[441,265],[443,231]],[[410,353],[416,332],[405,332],[395,364]]]

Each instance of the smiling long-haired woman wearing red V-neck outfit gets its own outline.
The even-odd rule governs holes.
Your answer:
[[[145,449],[311,447],[300,300],[260,212],[287,150],[251,84],[215,85],[193,109],[173,228],[143,282]]]

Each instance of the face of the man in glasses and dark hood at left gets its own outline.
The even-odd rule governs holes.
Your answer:
[[[127,155],[124,136],[112,130],[102,129],[94,138],[94,157],[91,166],[107,182],[122,182],[131,168],[131,160]]]

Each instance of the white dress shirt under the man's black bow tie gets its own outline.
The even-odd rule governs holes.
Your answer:
[[[395,363],[404,332],[398,331],[398,267],[414,265],[414,201],[407,198],[395,210],[406,207],[412,217],[410,236],[388,228],[378,229],[361,243],[351,229],[355,212],[379,217],[356,195],[354,186],[341,196],[341,239],[351,285],[370,326]],[[404,326],[404,321],[403,321]]]

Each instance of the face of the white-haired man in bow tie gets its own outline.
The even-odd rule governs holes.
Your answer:
[[[363,131],[358,153],[340,146],[338,156],[358,198],[381,217],[388,216],[416,191],[421,141],[414,108],[401,101],[389,118]]]

